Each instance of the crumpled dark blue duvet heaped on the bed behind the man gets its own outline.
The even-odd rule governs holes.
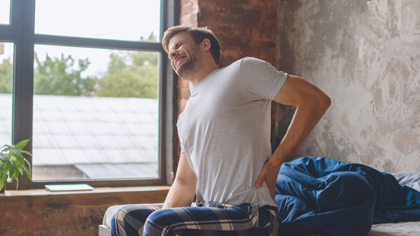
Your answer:
[[[372,223],[420,221],[420,192],[366,165],[304,156],[280,168],[280,235],[366,235]]]

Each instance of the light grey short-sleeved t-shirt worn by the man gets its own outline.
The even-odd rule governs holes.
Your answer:
[[[191,89],[177,126],[181,153],[198,178],[197,203],[276,206],[267,185],[255,189],[254,184],[272,155],[271,101],[286,78],[271,64],[246,57]]]

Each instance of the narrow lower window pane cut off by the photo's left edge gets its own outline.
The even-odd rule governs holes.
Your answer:
[[[13,48],[0,42],[0,147],[12,144]]]

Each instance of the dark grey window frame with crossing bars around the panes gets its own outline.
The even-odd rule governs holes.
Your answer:
[[[139,50],[159,52],[159,138],[158,156],[160,178],[127,180],[71,180],[57,182],[33,182],[26,175],[20,177],[19,189],[43,189],[45,184],[90,184],[94,187],[150,186],[172,184],[175,172],[174,158],[178,156],[176,135],[176,85],[175,76],[167,54],[161,43],[137,42],[129,40],[109,40],[35,34],[35,1],[11,0],[10,24],[0,25],[0,41],[15,43],[13,61],[13,115],[12,143],[30,139],[25,150],[32,152],[32,122],[34,103],[34,45],[61,45],[75,47],[95,47],[116,50]],[[160,0],[160,32],[176,24],[179,19],[179,1]],[[32,157],[26,156],[32,164]],[[16,181],[6,184],[7,189],[15,189]]]

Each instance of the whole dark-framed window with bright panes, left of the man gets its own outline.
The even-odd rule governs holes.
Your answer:
[[[170,182],[175,82],[159,40],[174,25],[174,2],[9,2],[0,42],[15,52],[0,53],[0,67],[15,55],[15,87],[0,105],[10,111],[0,138],[31,139],[33,178],[20,189]]]

